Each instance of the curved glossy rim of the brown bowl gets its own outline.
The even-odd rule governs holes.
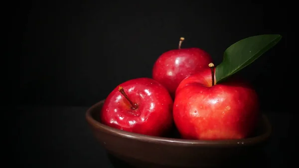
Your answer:
[[[92,112],[94,109],[104,104],[104,100],[97,102],[96,104],[92,105],[86,111],[85,119],[87,120],[88,124],[94,128],[101,130],[102,132],[114,135],[120,138],[127,138],[127,139],[134,139],[137,141],[149,142],[149,143],[157,143],[157,144],[169,144],[169,145],[192,145],[192,146],[209,146],[209,147],[232,147],[232,146],[251,146],[255,144],[260,144],[261,142],[266,141],[271,133],[272,133],[272,126],[265,114],[262,113],[262,120],[264,120],[266,124],[266,132],[259,136],[239,139],[239,140],[186,140],[186,139],[177,139],[177,138],[166,138],[166,137],[155,137],[149,135],[143,135],[138,133],[127,132],[124,130],[119,130],[113,127],[106,126],[96,119],[92,117]]]

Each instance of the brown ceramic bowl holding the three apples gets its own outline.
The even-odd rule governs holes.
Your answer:
[[[99,120],[103,103],[104,100],[89,108],[86,120],[108,154],[134,168],[244,168],[262,166],[266,159],[260,150],[271,134],[271,125],[264,114],[250,138],[197,141],[175,138],[177,134],[170,135],[172,138],[146,136],[103,125]]]

